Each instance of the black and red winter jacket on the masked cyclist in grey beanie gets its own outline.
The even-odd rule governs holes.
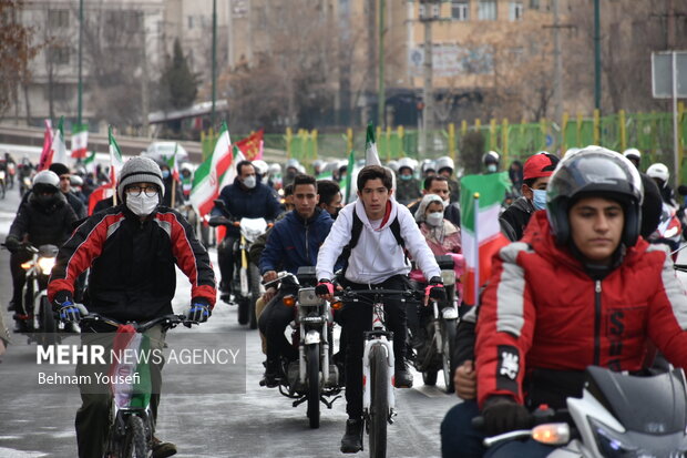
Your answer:
[[[191,282],[192,298],[215,304],[215,273],[205,247],[176,211],[161,206],[146,220],[125,205],[96,213],[62,246],[48,297],[72,292],[91,267],[86,307],[119,320],[171,314],[178,266]]]

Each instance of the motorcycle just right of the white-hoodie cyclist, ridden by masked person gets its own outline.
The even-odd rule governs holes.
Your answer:
[[[457,257],[460,258],[457,259]],[[414,368],[422,373],[424,385],[437,385],[437,376],[439,370],[442,370],[447,393],[452,393],[453,372],[455,370],[452,356],[458,326],[458,304],[461,296],[460,285],[457,284],[455,265],[462,266],[462,256],[444,255],[435,256],[435,258],[441,268],[441,279],[447,289],[448,301],[447,304],[432,301],[428,304],[430,309],[421,306],[419,314],[414,306],[409,312],[418,314],[420,320],[417,336],[412,335],[409,326],[409,339],[414,343],[411,359]],[[419,271],[411,272],[410,278],[418,289],[424,289],[427,286],[427,279]]]

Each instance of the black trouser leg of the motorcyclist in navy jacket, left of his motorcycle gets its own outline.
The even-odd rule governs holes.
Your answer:
[[[263,309],[258,319],[258,327],[265,335],[267,359],[276,360],[284,356],[290,360],[298,358],[298,350],[286,338],[284,332],[294,319],[294,307],[287,307],[281,299],[287,294],[296,294],[295,286],[281,285],[275,297]]]

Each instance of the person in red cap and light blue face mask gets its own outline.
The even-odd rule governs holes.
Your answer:
[[[546,185],[557,164],[558,157],[548,153],[537,153],[525,161],[522,196],[499,217],[501,232],[511,242],[522,238],[532,214],[546,207]]]

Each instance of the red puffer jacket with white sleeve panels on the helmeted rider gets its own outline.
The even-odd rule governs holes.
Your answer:
[[[687,296],[664,245],[639,240],[594,281],[555,244],[546,213],[536,212],[522,241],[495,256],[492,272],[478,319],[480,405],[494,395],[523,404],[523,380],[537,372],[638,370],[647,339],[687,367]]]

